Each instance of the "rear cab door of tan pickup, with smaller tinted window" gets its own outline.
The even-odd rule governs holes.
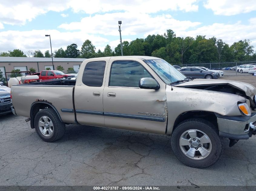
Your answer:
[[[93,59],[91,59],[93,60]],[[109,58],[101,61],[84,61],[75,85],[75,112],[78,123],[105,126],[103,115],[103,89],[106,65]]]

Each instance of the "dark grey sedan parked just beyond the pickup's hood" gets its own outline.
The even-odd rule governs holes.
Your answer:
[[[218,79],[218,72],[205,71],[198,67],[187,67],[179,70],[187,77],[191,78],[205,78],[205,79]]]

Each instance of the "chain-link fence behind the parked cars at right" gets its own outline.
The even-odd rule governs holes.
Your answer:
[[[175,65],[175,64],[173,64]],[[182,67],[190,67],[190,66],[196,66],[196,67],[205,67],[210,70],[222,70],[224,71],[224,76],[238,76],[238,75],[244,75],[248,72],[242,71],[240,73],[240,70],[238,71],[238,67],[241,65],[255,65],[256,61],[243,61],[243,62],[215,62],[215,63],[186,63],[186,64],[180,64],[177,66]],[[256,67],[255,67],[256,68]]]

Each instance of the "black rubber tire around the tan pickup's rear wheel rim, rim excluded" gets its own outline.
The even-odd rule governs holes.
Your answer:
[[[52,135],[50,136],[45,136],[39,129],[39,119],[42,116],[47,116],[53,124],[53,132]],[[40,110],[36,115],[35,115],[35,131],[37,132],[38,136],[44,140],[45,142],[54,142],[57,141],[58,139],[62,138],[65,132],[65,123],[62,123],[61,120],[59,119],[57,113],[52,109],[43,109]]]

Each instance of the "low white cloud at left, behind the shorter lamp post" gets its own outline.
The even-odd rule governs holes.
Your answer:
[[[72,43],[76,43],[81,49],[83,42],[86,39],[97,47],[103,46],[109,42],[107,39],[88,35],[82,32],[60,32],[58,30],[31,30],[31,31],[14,31],[8,30],[0,32],[0,51],[7,51],[12,49],[21,49],[24,53],[28,50],[40,49],[43,52],[50,50],[49,37],[45,34],[51,35],[52,50],[66,47]]]

